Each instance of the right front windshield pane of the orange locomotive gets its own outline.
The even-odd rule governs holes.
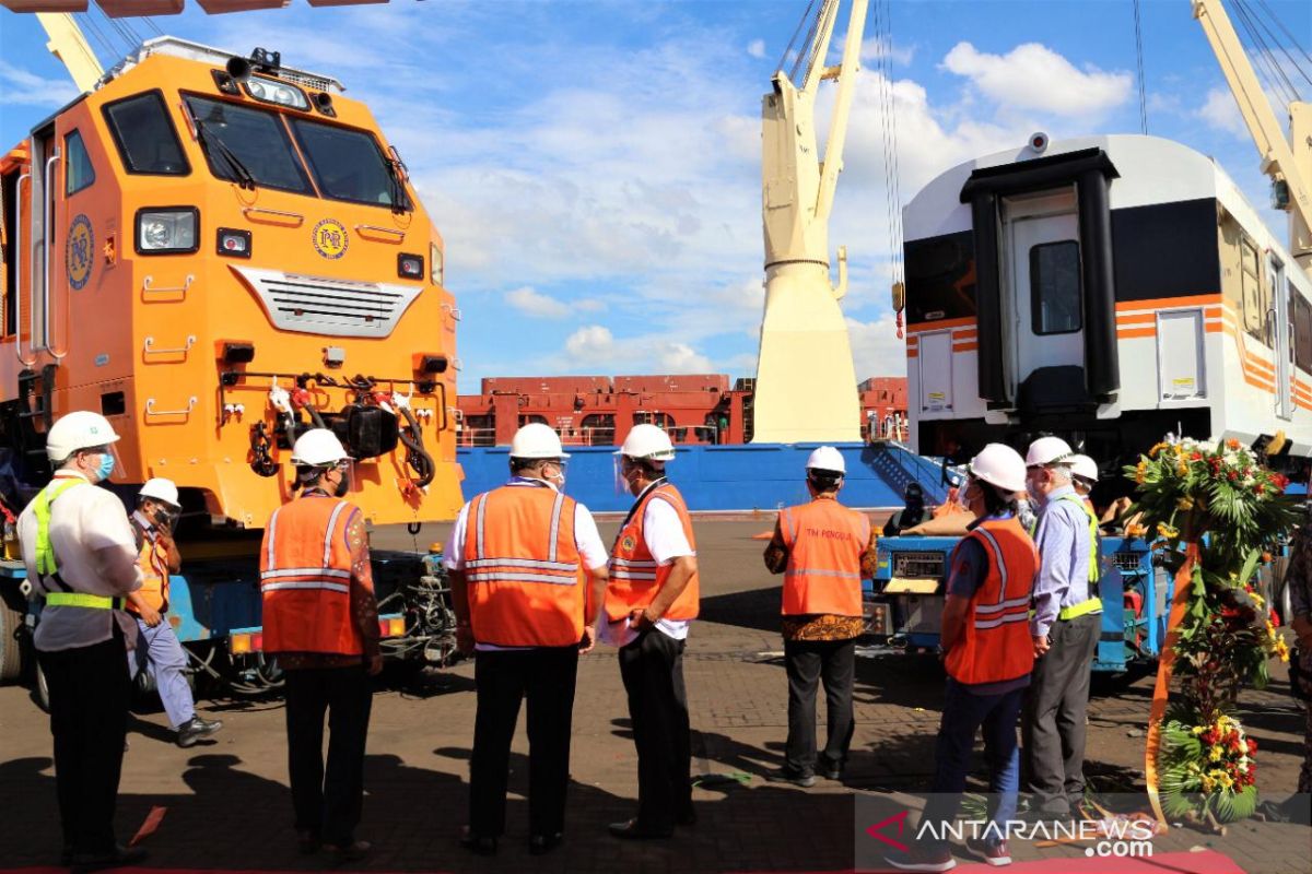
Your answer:
[[[324,197],[409,210],[400,170],[365,131],[291,119],[297,142]]]

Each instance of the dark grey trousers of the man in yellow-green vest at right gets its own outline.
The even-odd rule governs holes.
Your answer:
[[[1085,713],[1101,632],[1101,613],[1057,620],[1034,663],[1021,719],[1025,790],[1047,812],[1065,814],[1084,798]]]

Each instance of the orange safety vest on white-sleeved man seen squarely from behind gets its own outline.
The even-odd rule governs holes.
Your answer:
[[[573,646],[586,603],[573,498],[547,486],[501,486],[470,502],[464,580],[474,639]]]

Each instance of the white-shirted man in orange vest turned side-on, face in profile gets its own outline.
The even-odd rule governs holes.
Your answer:
[[[665,480],[669,435],[638,425],[615,453],[617,477],[635,495],[610,552],[605,638],[619,675],[638,750],[638,816],[611,823],[623,839],[660,839],[690,826],[693,752],[684,688],[684,643],[697,618],[697,540],[678,489]]]

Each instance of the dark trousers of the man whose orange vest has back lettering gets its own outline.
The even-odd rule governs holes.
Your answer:
[[[789,674],[789,770],[810,774],[816,765],[816,687],[824,679],[829,734],[824,764],[842,768],[857,723],[851,713],[851,687],[857,638],[850,641],[785,641],[783,664]]]

